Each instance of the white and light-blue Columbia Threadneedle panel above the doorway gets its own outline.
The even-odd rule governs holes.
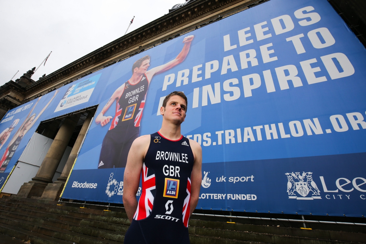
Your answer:
[[[70,86],[57,105],[54,113],[89,101],[90,95],[93,93],[100,76],[101,74],[98,74]]]

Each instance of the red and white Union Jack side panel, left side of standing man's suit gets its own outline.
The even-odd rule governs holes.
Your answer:
[[[135,220],[140,220],[149,217],[154,203],[154,196],[152,190],[156,188],[155,174],[147,176],[147,170],[145,163],[142,165],[142,191],[141,197],[138,201],[137,210],[134,215]]]

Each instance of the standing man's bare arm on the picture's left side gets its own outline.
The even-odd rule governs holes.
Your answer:
[[[123,176],[123,205],[127,217],[132,222],[137,209],[136,193],[140,183],[143,160],[149,149],[150,135],[136,138],[132,143],[127,157],[127,164]]]

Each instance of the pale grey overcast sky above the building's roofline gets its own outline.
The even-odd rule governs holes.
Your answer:
[[[0,86],[33,67],[38,80],[167,14],[184,0],[0,0]]]

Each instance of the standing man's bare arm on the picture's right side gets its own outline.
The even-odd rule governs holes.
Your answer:
[[[202,149],[201,146],[195,142],[194,140],[189,140],[191,145],[193,155],[194,155],[194,163],[191,175],[191,201],[190,201],[190,215],[195,210],[198,197],[199,197],[199,189],[201,189],[202,183]]]

